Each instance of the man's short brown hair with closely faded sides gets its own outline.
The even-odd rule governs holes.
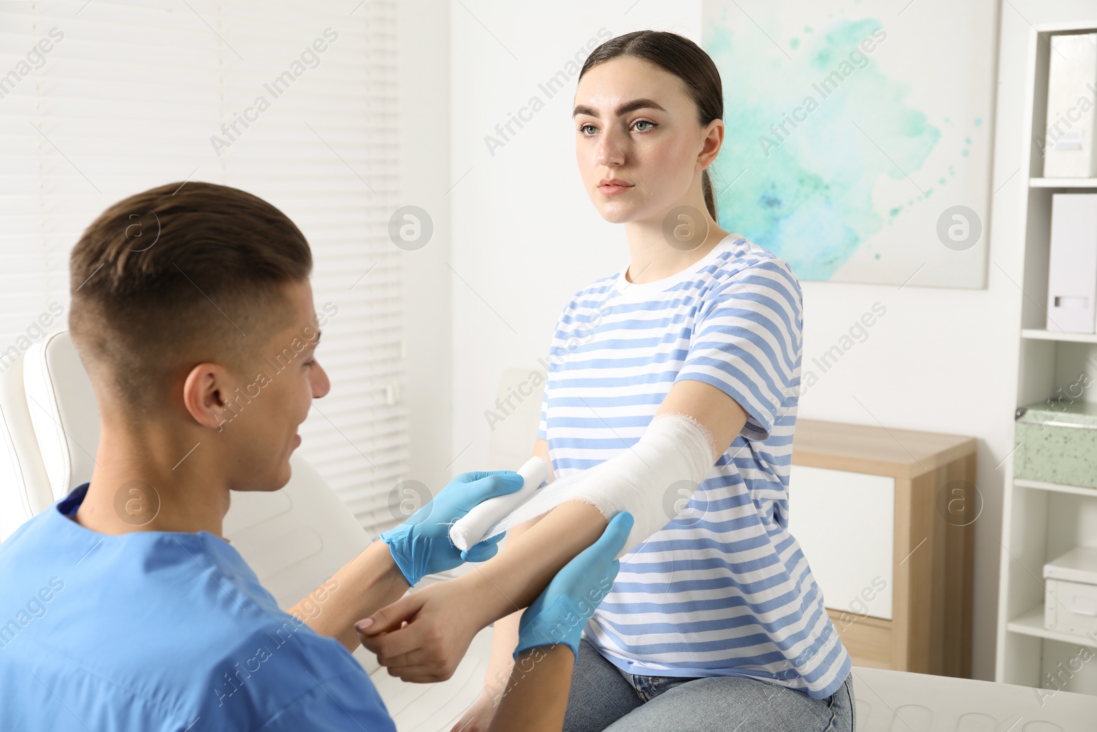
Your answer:
[[[279,285],[312,268],[305,236],[262,199],[215,183],[160,185],[109,207],[72,248],[72,341],[97,386],[148,410],[203,361],[248,376],[292,325]]]

